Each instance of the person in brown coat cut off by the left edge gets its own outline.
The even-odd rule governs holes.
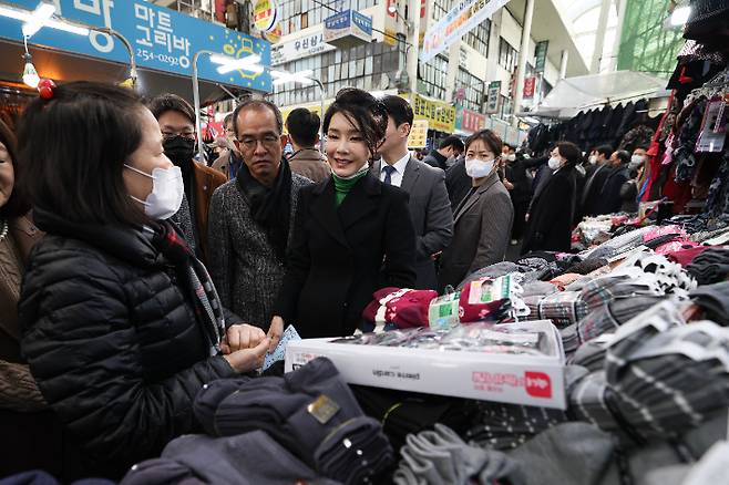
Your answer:
[[[16,189],[17,161],[16,136],[0,121],[0,436],[12,436],[0,460],[0,476],[62,469],[58,425],[20,352],[20,283],[30,249],[42,233]]]

